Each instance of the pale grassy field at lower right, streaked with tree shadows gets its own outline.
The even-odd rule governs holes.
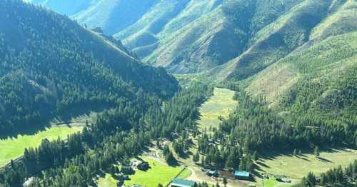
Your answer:
[[[303,153],[302,156],[280,155],[267,157],[258,161],[260,173],[284,175],[290,178],[300,179],[309,171],[320,174],[330,168],[347,166],[357,158],[357,150],[338,149],[321,152],[320,158],[313,153]]]

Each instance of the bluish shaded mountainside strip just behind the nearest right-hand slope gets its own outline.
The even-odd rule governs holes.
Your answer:
[[[253,45],[229,62],[228,79],[246,79],[305,44],[311,30],[328,14],[330,5],[331,1],[303,1],[258,31],[250,41]]]

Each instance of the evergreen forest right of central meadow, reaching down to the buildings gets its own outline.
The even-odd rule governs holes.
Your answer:
[[[234,98],[238,101],[236,110],[228,118],[221,118],[219,128],[210,128],[198,137],[195,162],[253,171],[258,152],[267,149],[314,148],[318,155],[318,149],[324,146],[357,146],[357,123],[353,118],[280,114],[268,108],[265,98],[252,98],[245,91],[236,92]]]

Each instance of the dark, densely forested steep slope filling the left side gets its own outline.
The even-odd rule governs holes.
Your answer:
[[[141,64],[66,16],[20,0],[0,1],[0,9],[1,133],[178,89],[164,69]]]

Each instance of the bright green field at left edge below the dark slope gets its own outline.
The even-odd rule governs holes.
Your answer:
[[[0,167],[9,163],[11,159],[21,156],[25,148],[39,146],[44,138],[49,140],[54,140],[58,137],[66,138],[68,134],[81,131],[82,128],[82,126],[54,126],[47,128],[46,131],[39,131],[34,135],[19,135],[16,138],[2,139],[0,140]]]

